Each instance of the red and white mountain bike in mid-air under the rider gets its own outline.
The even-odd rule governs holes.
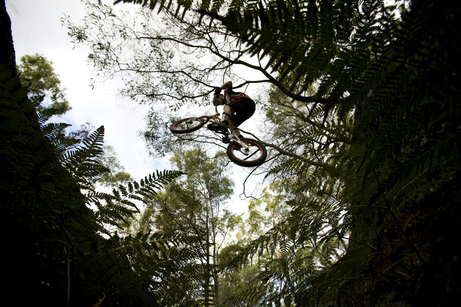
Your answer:
[[[208,116],[202,115],[198,117],[189,117],[174,122],[170,126],[170,131],[176,134],[190,133],[199,130],[207,122],[207,129],[214,133],[223,134],[222,141],[227,146],[227,156],[232,162],[243,167],[259,166],[266,161],[266,147],[255,139],[242,138],[239,139],[231,134],[229,128],[224,131],[220,130],[220,126],[216,125],[221,122],[218,108],[215,105],[216,114]]]

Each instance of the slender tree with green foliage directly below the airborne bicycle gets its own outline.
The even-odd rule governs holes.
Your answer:
[[[171,157],[181,180],[152,196],[141,218],[145,231],[200,237],[191,249],[205,253],[191,262],[202,264],[205,301],[219,305],[220,250],[226,246],[239,220],[226,207],[234,183],[225,168],[201,150],[178,151]]]

